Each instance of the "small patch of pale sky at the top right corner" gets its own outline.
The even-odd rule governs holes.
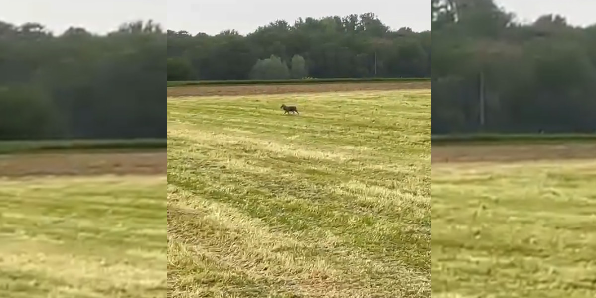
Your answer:
[[[545,14],[560,14],[574,26],[596,24],[596,0],[495,0],[495,3],[516,14],[523,23],[531,23]]]

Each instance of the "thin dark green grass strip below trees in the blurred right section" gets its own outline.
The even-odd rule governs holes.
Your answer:
[[[467,134],[433,135],[433,145],[480,144],[480,143],[553,143],[593,142],[596,134]]]

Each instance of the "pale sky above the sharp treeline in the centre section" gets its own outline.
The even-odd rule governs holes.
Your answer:
[[[594,0],[596,1],[596,0]],[[277,19],[374,13],[392,29],[430,30],[428,0],[167,0],[166,28],[191,34],[235,29],[253,32]]]

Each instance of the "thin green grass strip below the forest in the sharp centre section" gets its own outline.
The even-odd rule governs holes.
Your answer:
[[[195,80],[169,81],[168,87],[178,86],[229,86],[229,85],[291,85],[323,83],[374,83],[374,82],[430,82],[430,78],[374,77],[368,79],[305,79],[305,80]]]

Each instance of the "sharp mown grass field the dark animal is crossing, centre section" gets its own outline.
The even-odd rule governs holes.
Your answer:
[[[169,297],[428,297],[430,104],[428,89],[170,98]]]

